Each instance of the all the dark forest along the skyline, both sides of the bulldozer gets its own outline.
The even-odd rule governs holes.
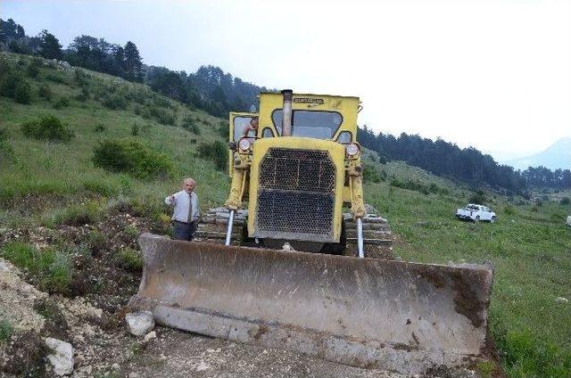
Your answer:
[[[228,111],[249,111],[257,103],[256,96],[267,90],[210,65],[202,66],[194,73],[145,66],[137,45],[130,41],[121,46],[103,38],[80,36],[63,49],[57,37],[47,30],[37,37],[29,37],[12,19],[0,19],[0,50],[39,54],[47,59],[63,60],[74,66],[145,83],[155,92],[222,118],[228,117]],[[434,142],[404,133],[398,137],[375,134],[365,126],[359,129],[358,140],[378,152],[384,160],[403,160],[435,175],[475,187],[490,185],[519,194],[525,194],[530,187],[571,188],[569,169],[552,171],[539,167],[521,172],[498,164],[492,156],[475,148],[460,149],[441,139]]]

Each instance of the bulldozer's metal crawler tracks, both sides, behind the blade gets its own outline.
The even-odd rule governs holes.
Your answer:
[[[200,219],[194,240],[224,244],[229,216],[230,212],[226,208],[208,210]],[[247,216],[246,210],[236,210],[230,240],[232,245],[244,242]],[[351,213],[343,213],[343,222],[346,240],[343,255],[357,256],[357,223]],[[393,259],[393,236],[388,221],[376,214],[367,214],[362,218],[362,224],[365,256],[374,259]]]

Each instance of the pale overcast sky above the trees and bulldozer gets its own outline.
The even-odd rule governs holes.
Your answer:
[[[0,17],[135,42],[146,64],[213,64],[260,86],[357,95],[360,124],[497,158],[571,136],[571,1],[12,1]]]

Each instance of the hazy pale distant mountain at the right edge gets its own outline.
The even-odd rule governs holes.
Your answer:
[[[505,164],[522,170],[539,166],[550,169],[571,169],[571,137],[559,139],[543,152],[525,158],[506,160]]]

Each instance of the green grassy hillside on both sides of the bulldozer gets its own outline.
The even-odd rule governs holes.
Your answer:
[[[198,182],[202,210],[225,201],[226,173],[217,170],[215,156],[200,152],[201,145],[225,141],[225,119],[104,74],[16,54],[2,53],[0,59],[28,83],[30,94],[29,103],[0,97],[6,135],[0,151],[0,228],[54,227],[73,217],[95,222],[118,201],[166,225],[162,200],[187,176]],[[22,134],[23,123],[47,114],[73,132],[69,142]],[[172,162],[170,173],[141,179],[96,168],[94,149],[103,140],[137,141],[164,153]],[[395,254],[422,262],[492,261],[491,333],[506,372],[569,376],[571,305],[558,298],[571,299],[571,229],[564,224],[571,205],[485,193],[498,222],[463,223],[453,213],[467,204],[466,188],[366,155],[366,200],[389,219]]]

